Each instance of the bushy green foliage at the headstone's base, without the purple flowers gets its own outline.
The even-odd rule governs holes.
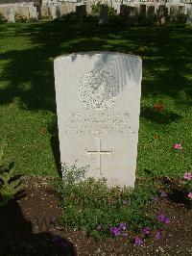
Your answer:
[[[70,167],[65,166],[65,170]],[[145,226],[153,229],[161,225],[153,214],[156,208],[152,199],[156,195],[154,184],[138,185],[134,190],[108,188],[105,179],[74,182],[77,175],[71,178],[72,168],[69,172],[68,182],[55,184],[63,210],[58,219],[61,225],[84,230],[96,238],[112,236],[111,228],[122,222],[126,223],[127,231],[135,233]]]

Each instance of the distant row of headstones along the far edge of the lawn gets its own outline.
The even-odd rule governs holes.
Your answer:
[[[139,22],[141,23],[145,22],[146,20],[147,22],[153,23],[156,17],[157,24],[163,25],[167,20],[168,13],[170,13],[171,21],[177,21],[180,17],[184,17],[184,15],[187,14],[187,24],[191,24],[191,9],[191,6],[189,8],[185,8],[184,5],[119,5],[119,14],[124,16],[127,19],[127,22],[131,25],[136,25],[138,22],[138,16]],[[8,21],[13,22],[15,13],[25,15],[27,18],[38,18],[39,16],[42,16],[55,19],[60,18],[62,15],[67,13],[73,12],[81,18],[86,13],[91,13],[91,4],[88,3],[87,5],[77,5],[75,3],[66,3],[58,5],[42,5],[39,10],[39,13],[36,13],[36,7],[34,7],[33,3],[0,5],[0,13],[3,13]],[[108,8],[106,6],[102,6],[99,14],[99,24],[107,23]]]

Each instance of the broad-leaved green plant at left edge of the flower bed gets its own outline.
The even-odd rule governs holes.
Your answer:
[[[4,145],[0,145],[0,206],[6,205],[17,192],[23,189],[20,179],[13,175],[12,163],[8,168],[3,165]]]

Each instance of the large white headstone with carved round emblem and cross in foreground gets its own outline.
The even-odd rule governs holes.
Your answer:
[[[134,186],[142,61],[87,52],[55,60],[60,162],[88,166],[85,177]]]

